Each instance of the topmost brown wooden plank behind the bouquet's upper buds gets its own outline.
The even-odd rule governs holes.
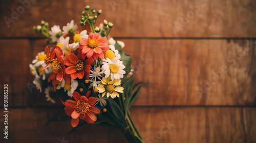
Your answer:
[[[41,20],[61,27],[72,19],[79,23],[86,5],[102,9],[99,21],[106,19],[114,23],[111,32],[114,37],[256,37],[256,1],[203,2],[47,0],[30,2],[30,6],[24,8],[19,0],[2,1],[0,18],[13,15],[8,20],[13,22],[9,22],[8,28],[6,21],[1,20],[0,37],[38,36],[33,34],[32,27]],[[17,12],[17,8],[18,16],[13,12]]]

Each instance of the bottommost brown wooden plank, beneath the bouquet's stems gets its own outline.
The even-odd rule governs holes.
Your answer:
[[[245,111],[244,114],[242,110]],[[125,142],[122,133],[112,127],[89,126],[67,135],[72,129],[68,121],[44,126],[52,118],[65,114],[60,108],[26,108],[9,111],[9,142],[58,142],[57,138],[62,139],[63,136],[70,142],[81,140]],[[253,134],[256,129],[253,120],[255,108],[136,107],[132,108],[131,116],[146,142],[254,142],[255,140]],[[248,134],[251,136],[248,137]],[[2,140],[3,137],[0,138],[1,142]]]

